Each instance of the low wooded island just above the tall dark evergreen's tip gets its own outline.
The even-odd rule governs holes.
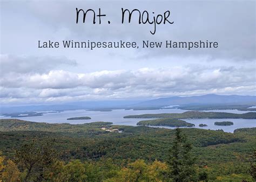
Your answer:
[[[188,123],[183,120],[171,119],[171,118],[139,121],[137,125],[163,126],[163,127],[194,127],[194,124],[192,123]]]

